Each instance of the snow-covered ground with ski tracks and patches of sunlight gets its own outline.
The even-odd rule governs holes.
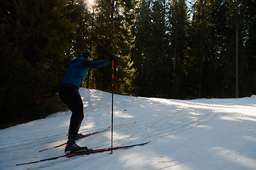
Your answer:
[[[111,125],[112,94],[80,89],[87,134]],[[114,95],[114,147],[129,149],[16,166],[64,154],[70,111],[0,130],[0,169],[256,169],[256,96],[191,101]],[[78,141],[111,147],[111,130]]]

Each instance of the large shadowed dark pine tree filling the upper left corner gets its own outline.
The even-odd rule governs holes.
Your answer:
[[[16,108],[31,111],[58,91],[73,30],[64,6],[60,0],[1,1],[0,109],[10,119]]]

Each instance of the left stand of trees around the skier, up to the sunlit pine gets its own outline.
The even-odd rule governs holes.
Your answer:
[[[43,118],[53,112],[70,61],[84,51],[110,57],[115,88],[129,91],[134,74],[131,1],[3,0],[0,6],[1,123]],[[91,69],[82,87],[111,89],[112,65]]]

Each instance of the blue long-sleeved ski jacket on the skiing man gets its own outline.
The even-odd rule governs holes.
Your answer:
[[[105,66],[109,62],[110,60],[108,59],[100,60],[99,62],[92,62],[87,60],[85,57],[75,58],[70,62],[70,67],[68,67],[68,71],[65,74],[61,85],[72,84],[79,88],[82,83],[82,79],[85,78],[89,68],[97,69]]]

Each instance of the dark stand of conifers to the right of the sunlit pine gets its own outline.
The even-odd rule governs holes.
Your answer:
[[[235,97],[236,76],[238,96],[255,94],[255,1],[186,2],[146,0],[137,6],[132,29],[137,94]]]

